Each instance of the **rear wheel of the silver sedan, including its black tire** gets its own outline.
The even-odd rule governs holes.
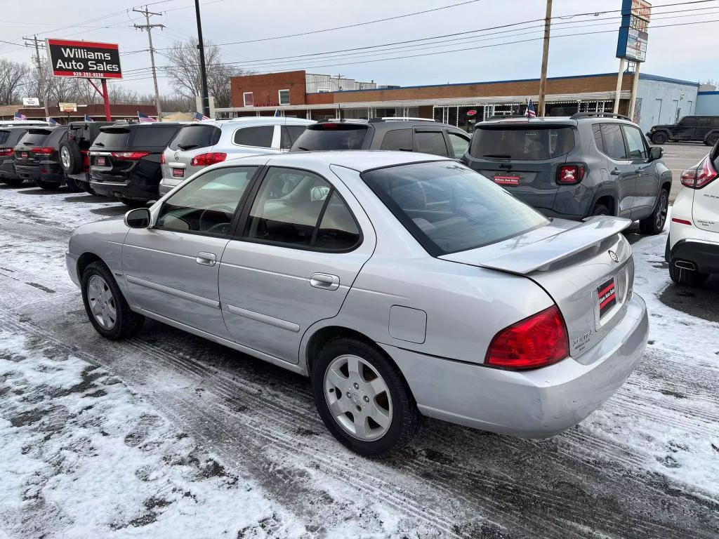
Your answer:
[[[350,365],[357,368],[351,372]],[[422,415],[399,369],[357,338],[336,338],[321,349],[313,364],[312,391],[332,436],[371,459],[406,446],[421,427]],[[361,421],[355,420],[358,413]]]

